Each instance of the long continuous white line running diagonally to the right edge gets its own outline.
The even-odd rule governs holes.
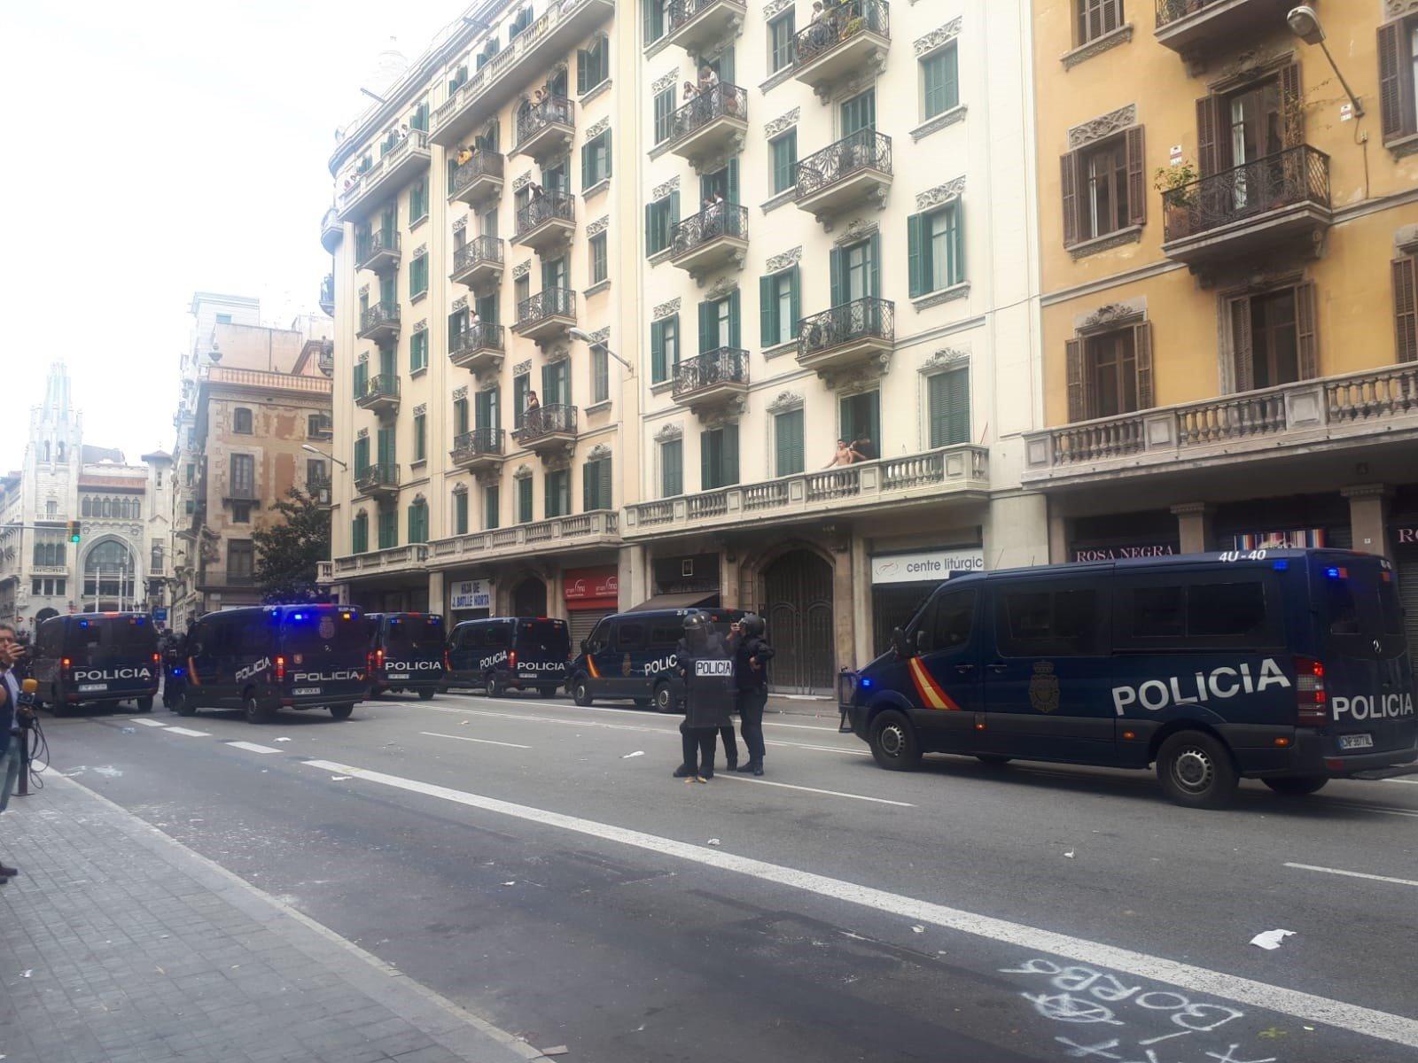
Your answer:
[[[747,856],[735,856],[722,849],[706,849],[688,842],[678,842],[672,838],[631,831],[611,823],[598,823],[593,819],[569,816],[562,812],[550,812],[543,808],[518,805],[510,801],[468,794],[461,789],[438,787],[418,780],[386,775],[380,771],[352,768],[347,764],[337,764],[328,760],[303,761],[306,767],[320,771],[330,771],[342,775],[354,775],[369,782],[379,782],[394,789],[404,789],[413,794],[452,801],[471,808],[481,808],[486,812],[523,819],[530,823],[556,826],[607,842],[628,845],[635,849],[675,856],[682,860],[718,867],[719,870],[735,872],[778,886],[791,886],[804,893],[814,893],[821,897],[842,900],[849,904],[873,909],[892,916],[900,916],[910,923],[933,923],[947,930],[959,930],[964,934],[974,934],[990,941],[1007,945],[1028,948],[1035,952],[1052,952],[1068,957],[1092,967],[1124,971],[1137,978],[1149,978],[1157,982],[1167,982],[1183,989],[1221,996],[1228,1001],[1249,1003],[1271,1012],[1289,1015],[1305,1022],[1322,1022],[1327,1026],[1361,1033],[1368,1037],[1394,1042],[1409,1047],[1418,1047],[1418,1019],[1404,1015],[1364,1008],[1357,1003],[1346,1003],[1327,996],[1288,989],[1280,985],[1256,982],[1251,978],[1229,975],[1224,971],[1211,971],[1205,967],[1194,967],[1164,957],[1154,957],[1146,952],[1134,952],[1130,948],[1117,948],[1100,941],[1058,934],[1051,930],[1031,927],[1024,923],[1011,923],[991,916],[980,916],[961,909],[951,909],[944,904],[905,897],[898,893],[861,886],[842,879],[831,879],[825,874],[783,867],[764,860],[754,860]]]

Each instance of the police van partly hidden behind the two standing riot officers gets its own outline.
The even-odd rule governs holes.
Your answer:
[[[715,631],[725,636],[743,617],[742,609],[632,609],[605,617],[571,662],[571,699],[581,706],[620,699],[654,704],[662,713],[679,709],[685,685],[675,670],[675,651],[691,612],[708,612]]]

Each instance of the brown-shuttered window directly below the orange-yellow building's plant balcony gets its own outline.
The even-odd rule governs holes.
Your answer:
[[[1314,285],[1232,299],[1231,347],[1236,391],[1317,377]]]

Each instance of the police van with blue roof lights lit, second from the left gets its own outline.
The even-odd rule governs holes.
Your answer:
[[[257,605],[208,612],[187,634],[176,712],[241,709],[251,723],[281,709],[349,719],[369,693],[369,631],[349,605]]]

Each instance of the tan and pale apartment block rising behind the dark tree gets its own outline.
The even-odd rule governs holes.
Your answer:
[[[330,500],[332,322],[302,315],[259,323],[244,296],[193,296],[194,342],[183,357],[173,495],[173,626],[261,602],[251,533],[301,488]]]

